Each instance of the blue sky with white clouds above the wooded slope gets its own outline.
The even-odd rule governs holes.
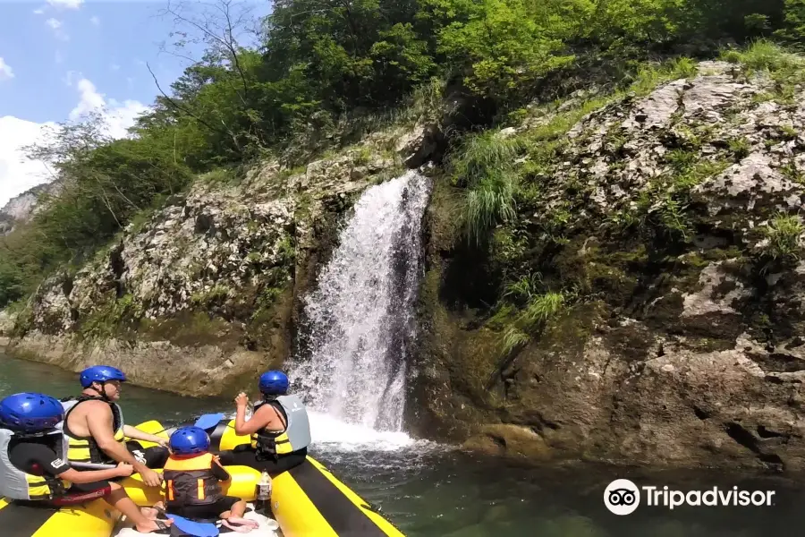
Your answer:
[[[194,0],[195,1],[195,0]],[[250,0],[257,14],[268,2]],[[0,208],[52,179],[21,147],[47,127],[106,111],[109,134],[127,135],[188,64],[165,51],[176,29],[167,0],[0,0]],[[199,48],[190,54],[198,57]],[[43,131],[45,129],[45,131]]]

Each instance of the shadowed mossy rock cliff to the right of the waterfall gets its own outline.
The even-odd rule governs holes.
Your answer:
[[[538,459],[805,467],[797,88],[708,62],[615,98],[526,152],[517,217],[479,246],[437,183],[411,427]],[[507,298],[528,274],[536,298]],[[504,345],[548,291],[562,307]]]

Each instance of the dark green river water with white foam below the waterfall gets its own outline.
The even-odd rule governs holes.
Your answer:
[[[0,355],[0,396],[39,390],[67,396],[77,376],[58,368]],[[131,423],[181,421],[231,411],[228,401],[182,397],[125,386],[121,401]],[[805,490],[796,479],[723,473],[625,472],[606,466],[525,467],[469,456],[414,441],[404,433],[377,433],[324,415],[312,419],[312,455],[328,465],[409,537],[767,537],[799,533]],[[614,478],[679,490],[718,485],[775,490],[771,507],[640,507],[630,516],[606,510],[603,491]]]

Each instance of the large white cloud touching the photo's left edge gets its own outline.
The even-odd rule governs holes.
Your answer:
[[[14,196],[52,179],[47,166],[28,160],[21,150],[42,140],[47,127],[55,124],[36,124],[11,115],[0,117],[0,208]]]

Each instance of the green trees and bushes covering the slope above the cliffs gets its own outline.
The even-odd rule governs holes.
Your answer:
[[[63,187],[0,245],[0,306],[35,289],[56,266],[88,259],[196,175],[242,175],[238,166],[266,157],[292,168],[378,125],[436,115],[446,93],[460,97],[453,123],[462,130],[502,125],[521,118],[535,98],[595,82],[645,92],[659,81],[645,66],[654,57],[713,55],[730,39],[796,44],[805,21],[801,0],[284,0],[247,47],[234,37],[239,7],[217,7],[215,19],[201,4],[171,13],[189,29],[185,40],[202,41],[207,51],[161,88],[131,139],[107,139],[90,117],[31,150],[54,163]],[[530,143],[496,144],[490,133],[464,142],[453,162],[457,184],[470,191],[468,226],[477,241],[513,217],[513,203],[526,202],[518,197],[538,195],[511,173],[514,153],[527,150],[529,173],[538,174],[563,132],[600,104],[556,115]],[[673,202],[661,218],[684,233]],[[557,230],[547,233],[562,240]]]

